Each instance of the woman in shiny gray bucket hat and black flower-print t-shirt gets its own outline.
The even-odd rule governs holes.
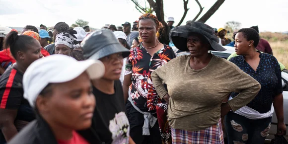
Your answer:
[[[122,84],[119,80],[123,58],[129,50],[122,46],[111,30],[94,31],[81,43],[84,59],[100,60],[105,66],[102,78],[92,80],[96,98],[93,128],[104,144],[135,144],[130,138]]]

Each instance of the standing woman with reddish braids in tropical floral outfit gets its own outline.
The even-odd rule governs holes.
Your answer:
[[[159,42],[162,24],[155,15],[140,16],[138,26],[142,42],[130,50],[123,82],[130,136],[136,144],[171,144],[167,103],[159,98],[150,74],[176,56]]]

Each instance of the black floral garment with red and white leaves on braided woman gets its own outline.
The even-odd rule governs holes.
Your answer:
[[[132,48],[127,58],[125,75],[132,73],[129,95],[134,105],[141,111],[157,113],[162,144],[172,144],[171,128],[167,122],[168,105],[158,96],[152,83],[151,73],[176,58],[176,55],[170,46],[164,44],[162,49],[151,56],[142,45],[143,43],[139,47]]]

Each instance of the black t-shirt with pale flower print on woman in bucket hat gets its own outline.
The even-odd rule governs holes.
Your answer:
[[[93,87],[96,98],[96,133],[106,144],[128,144],[129,121],[120,80],[115,81],[114,88],[114,94],[106,94]]]

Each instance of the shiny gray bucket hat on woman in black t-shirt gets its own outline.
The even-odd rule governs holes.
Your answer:
[[[84,59],[98,60],[116,53],[122,53],[123,58],[126,58],[130,54],[109,29],[92,32],[82,41],[81,47]]]

